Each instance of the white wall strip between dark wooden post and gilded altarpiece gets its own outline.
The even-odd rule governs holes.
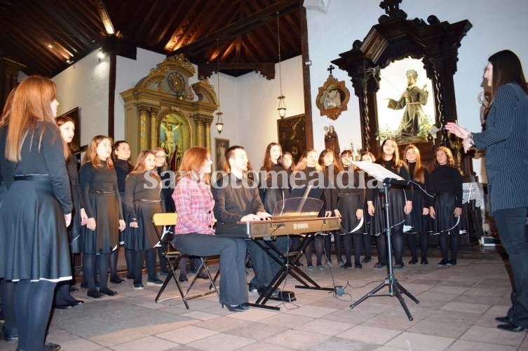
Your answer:
[[[156,64],[165,60],[165,55],[137,48],[136,60],[117,57],[116,61],[116,95],[114,104],[114,136],[116,140],[125,139],[125,102],[121,92],[134,88],[140,79],[148,76]],[[133,155],[135,158],[135,155]]]

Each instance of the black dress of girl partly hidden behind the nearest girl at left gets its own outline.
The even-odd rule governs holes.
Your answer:
[[[81,196],[81,186],[79,185],[79,170],[77,169],[77,158],[74,155],[69,156],[66,164],[69,176],[69,185],[72,188],[72,200],[74,203],[74,212],[72,213],[72,225],[68,227],[69,249],[72,254],[82,252],[81,240],[81,208],[83,198]]]

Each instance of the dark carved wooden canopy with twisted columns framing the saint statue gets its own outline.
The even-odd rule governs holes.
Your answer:
[[[468,20],[440,22],[435,15],[430,15],[427,22],[419,18],[407,20],[407,14],[399,8],[400,2],[382,1],[380,7],[386,10],[386,15],[379,18],[379,23],[370,29],[363,41],[354,41],[351,50],[332,61],[351,77],[359,98],[363,149],[374,154],[379,150],[375,138],[379,128],[376,100],[379,71],[404,57],[424,62],[426,74],[433,82],[435,121],[442,126],[436,142],[447,144],[445,123],[456,120],[453,75],[458,48],[472,27]]]

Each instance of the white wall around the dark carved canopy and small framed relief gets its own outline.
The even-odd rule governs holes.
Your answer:
[[[338,58],[339,53],[350,50],[356,39],[363,41],[370,27],[377,24],[379,16],[384,14],[378,5],[379,1],[371,0],[332,0],[325,13],[306,11],[309,54],[313,63],[310,72],[312,99],[317,95],[317,88],[326,81],[326,68],[330,61]],[[426,20],[429,15],[436,15],[440,21],[454,23],[467,19],[473,24],[461,41],[454,86],[459,123],[470,130],[479,131],[477,95],[481,90],[482,69],[487,57],[508,48],[517,53],[525,74],[528,72],[528,46],[524,40],[524,34],[528,32],[528,22],[525,20],[528,18],[528,1],[405,0],[400,8],[407,13],[407,19]],[[346,87],[351,91],[348,111],[341,113],[334,122],[343,149],[350,140],[354,144],[361,140],[359,107],[346,72],[337,69],[334,77],[346,81]],[[323,127],[330,120],[319,117],[316,105],[312,106],[314,146],[319,150],[324,147]],[[475,161],[474,168],[475,172],[480,173],[480,161]]]

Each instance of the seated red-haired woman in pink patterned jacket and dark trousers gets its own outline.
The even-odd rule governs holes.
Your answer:
[[[172,239],[180,252],[195,256],[220,255],[220,303],[231,312],[249,308],[245,282],[245,240],[214,235],[215,200],[210,186],[211,154],[194,146],[185,151],[180,179],[172,199],[178,221]]]

